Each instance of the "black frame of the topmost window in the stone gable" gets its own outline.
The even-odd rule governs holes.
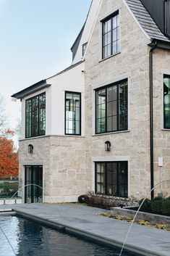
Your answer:
[[[109,15],[108,17],[104,18],[103,20],[101,20],[102,22],[102,59],[107,59],[111,56],[114,56],[115,54],[119,53],[119,41],[120,38],[117,36],[117,28],[120,29],[120,26],[116,24],[116,52],[113,52],[113,43],[115,41],[113,41],[113,19],[114,17],[118,17],[119,18],[119,10],[117,10],[116,12],[114,12],[113,14]],[[104,48],[106,46],[106,44],[104,44],[104,36],[106,35],[106,33],[104,33],[104,25],[106,22],[108,22],[109,20],[111,20],[111,54],[105,56],[104,54]],[[107,44],[109,45],[109,44]]]

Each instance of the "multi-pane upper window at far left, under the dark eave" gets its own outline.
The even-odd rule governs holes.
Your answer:
[[[25,101],[25,137],[46,134],[46,93]]]

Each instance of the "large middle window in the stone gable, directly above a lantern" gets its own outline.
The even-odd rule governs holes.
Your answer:
[[[127,80],[95,91],[95,133],[127,130]]]

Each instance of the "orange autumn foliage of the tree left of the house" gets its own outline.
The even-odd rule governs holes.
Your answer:
[[[13,135],[12,131],[7,130],[0,136],[0,178],[18,175],[18,155],[14,151]]]

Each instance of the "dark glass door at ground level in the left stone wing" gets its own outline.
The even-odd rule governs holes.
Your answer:
[[[43,166],[25,166],[25,202],[43,201]]]

